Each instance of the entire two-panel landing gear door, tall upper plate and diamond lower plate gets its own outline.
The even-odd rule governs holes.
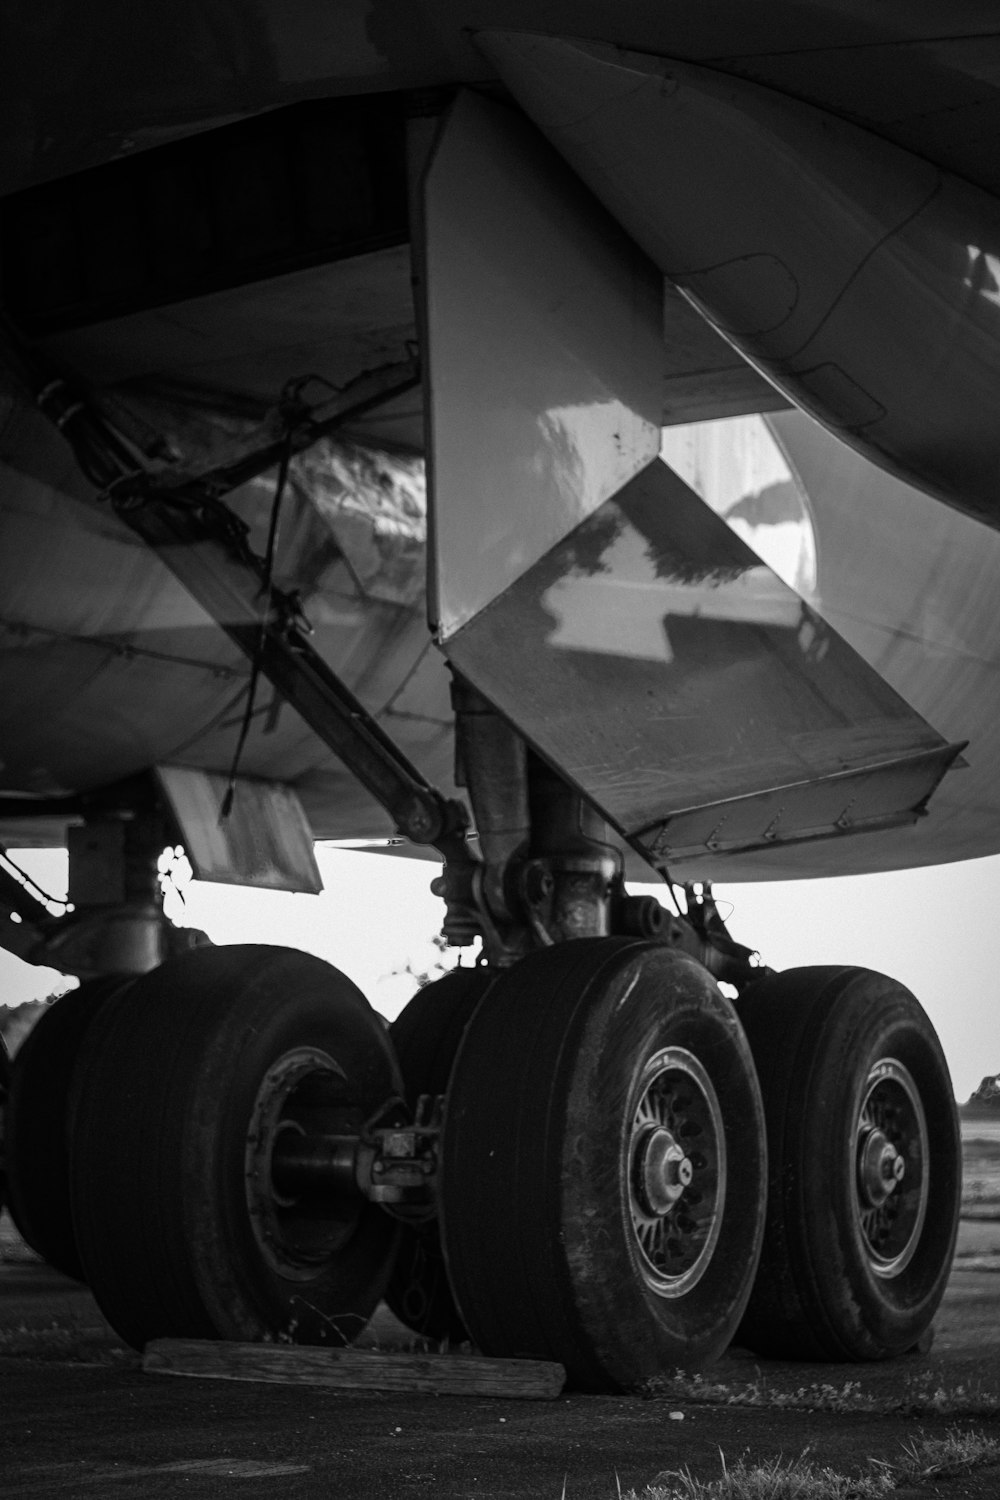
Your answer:
[[[658,273],[474,94],[424,213],[450,663],[657,867],[777,879],[814,868],[798,844],[909,830],[958,747],[658,458]]]

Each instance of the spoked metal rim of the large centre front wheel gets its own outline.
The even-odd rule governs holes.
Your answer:
[[[661,1298],[705,1275],[726,1202],[726,1136],[712,1082],[685,1047],[648,1059],[628,1143],[628,1212],[636,1263]]]

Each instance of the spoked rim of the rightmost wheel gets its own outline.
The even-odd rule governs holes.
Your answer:
[[[913,1258],[928,1203],[930,1142],[921,1095],[895,1058],[862,1089],[855,1138],[856,1212],[874,1275],[898,1276]]]

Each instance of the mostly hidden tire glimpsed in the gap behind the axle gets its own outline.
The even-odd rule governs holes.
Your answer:
[[[411,1113],[421,1094],[447,1094],[465,1028],[493,978],[487,969],[453,969],[418,990],[390,1026]],[[403,1226],[385,1300],[400,1323],[423,1338],[448,1344],[468,1340],[448,1284],[436,1215]]]

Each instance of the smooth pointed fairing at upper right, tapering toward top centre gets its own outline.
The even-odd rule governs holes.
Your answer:
[[[1000,525],[1000,204],[708,68],[484,33],[505,82],[640,244],[796,405]]]

